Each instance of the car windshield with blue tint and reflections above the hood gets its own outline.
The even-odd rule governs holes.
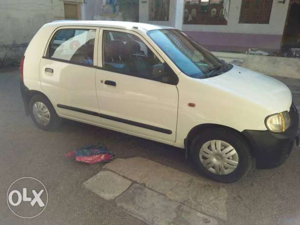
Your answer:
[[[168,55],[186,75],[203,79],[218,74],[213,72],[224,64],[180,30],[151,30],[149,37]]]

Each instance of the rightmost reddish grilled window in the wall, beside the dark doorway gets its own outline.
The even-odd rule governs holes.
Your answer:
[[[242,0],[239,23],[265,23],[270,21],[273,0]]]

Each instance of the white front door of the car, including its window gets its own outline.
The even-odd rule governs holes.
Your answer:
[[[102,28],[100,37],[96,89],[102,124],[175,142],[177,76],[139,34]]]

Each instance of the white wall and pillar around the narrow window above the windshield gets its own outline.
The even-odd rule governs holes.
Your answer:
[[[170,0],[169,21],[149,20],[149,0],[139,1],[139,22],[182,28],[184,0]]]

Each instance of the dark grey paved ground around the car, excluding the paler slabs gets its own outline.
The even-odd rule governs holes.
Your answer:
[[[279,79],[291,88],[300,109],[300,80]],[[144,225],[142,218],[119,209],[117,200],[105,200],[83,186],[104,169],[102,164],[80,164],[64,157],[70,150],[99,142],[119,158],[142,157],[212,183],[197,175],[192,163],[184,160],[183,151],[165,144],[71,121],[65,121],[57,132],[39,130],[24,116],[18,71],[0,71],[0,224]],[[235,184],[214,183],[228,195],[225,224],[300,224],[299,162],[300,149],[295,147],[279,168],[251,171]],[[24,176],[41,180],[49,195],[45,211],[31,220],[16,217],[6,205],[9,185]],[[130,188],[147,192],[136,185]],[[125,204],[123,200],[120,199],[119,206]]]

